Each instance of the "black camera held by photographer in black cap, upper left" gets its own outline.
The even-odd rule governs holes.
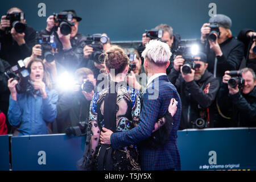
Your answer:
[[[74,23],[71,23],[73,19],[73,15],[71,13],[53,13],[54,21],[55,23],[59,23],[59,26],[55,27],[55,30],[57,31],[57,28],[60,27],[60,32],[62,35],[68,35],[71,33],[72,29],[71,27],[74,26]]]

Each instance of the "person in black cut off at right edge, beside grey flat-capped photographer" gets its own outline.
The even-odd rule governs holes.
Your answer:
[[[256,72],[256,32],[249,28],[240,31],[237,39],[245,44],[246,67]]]

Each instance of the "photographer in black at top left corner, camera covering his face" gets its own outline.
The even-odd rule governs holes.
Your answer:
[[[12,7],[1,18],[0,57],[11,66],[17,60],[25,59],[32,53],[36,31],[27,26],[24,13],[18,7]]]

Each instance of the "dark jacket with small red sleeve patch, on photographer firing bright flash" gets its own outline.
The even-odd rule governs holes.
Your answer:
[[[200,118],[200,110],[205,111],[210,107],[210,127],[213,127],[212,104],[219,89],[219,82],[212,73],[205,70],[204,75],[198,81],[185,82],[179,72],[172,68],[169,80],[177,88],[182,102],[181,120],[179,130],[193,128],[197,118]],[[209,86],[208,93],[203,90]],[[200,108],[200,109],[199,109]]]

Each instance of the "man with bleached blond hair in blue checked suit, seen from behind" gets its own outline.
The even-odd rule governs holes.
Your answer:
[[[180,155],[177,149],[176,136],[179,127],[181,114],[180,96],[174,85],[168,80],[166,68],[170,64],[170,47],[159,40],[150,40],[142,52],[144,57],[144,68],[148,76],[146,89],[142,94],[142,111],[139,124],[134,129],[122,133],[112,133],[104,129],[101,132],[101,143],[112,144],[114,149],[129,146],[137,143],[141,155],[142,170],[180,170]],[[155,97],[158,96],[158,97]],[[171,98],[177,101],[177,110],[172,117],[172,126],[166,129],[164,126],[159,129],[159,135],[152,134],[154,125],[159,118],[168,113],[168,105]],[[144,144],[143,140],[165,140],[166,142],[153,147],[151,142]],[[154,150],[152,150],[154,149]],[[154,156],[154,158],[152,157]]]

